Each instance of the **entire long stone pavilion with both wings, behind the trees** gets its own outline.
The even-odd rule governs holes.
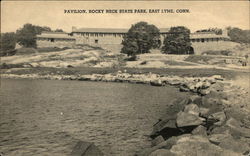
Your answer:
[[[80,28],[72,27],[72,32],[66,33],[42,33],[37,36],[38,47],[55,46],[72,47],[77,44],[89,44],[100,46],[104,49],[120,52],[123,37],[128,29],[111,28]],[[169,29],[160,29],[160,40],[163,43],[164,38],[169,34]],[[226,50],[233,47],[236,43],[231,42],[227,31],[222,34],[215,32],[195,32],[190,34],[192,47],[195,54],[201,54],[209,50]]]

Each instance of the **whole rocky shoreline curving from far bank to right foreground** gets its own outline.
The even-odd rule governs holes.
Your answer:
[[[2,74],[1,77],[174,85],[180,91],[193,94],[166,105],[166,114],[152,125],[152,146],[136,155],[250,154],[249,93],[220,75],[179,77],[118,71],[92,75]]]

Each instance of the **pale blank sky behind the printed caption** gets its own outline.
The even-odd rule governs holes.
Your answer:
[[[249,1],[2,1],[1,32],[26,23],[71,32],[77,28],[130,28],[145,21],[158,28],[186,26],[191,32],[227,26],[250,29]],[[174,13],[64,13],[65,10],[173,9]],[[188,9],[189,13],[177,13]]]

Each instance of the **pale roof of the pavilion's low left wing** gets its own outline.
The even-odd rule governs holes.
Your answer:
[[[37,38],[55,38],[55,39],[75,39],[65,32],[42,32],[41,35],[36,35]]]

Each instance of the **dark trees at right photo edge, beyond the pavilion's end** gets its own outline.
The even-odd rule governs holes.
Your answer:
[[[242,30],[236,27],[227,27],[231,41],[238,43],[250,43],[250,30]]]

